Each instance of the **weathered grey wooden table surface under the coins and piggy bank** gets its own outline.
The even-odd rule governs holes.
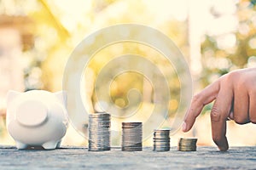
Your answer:
[[[58,150],[16,150],[0,146],[0,169],[256,169],[255,147],[231,147],[221,152],[216,147],[198,147],[182,152],[172,147],[167,152],[125,152],[119,148],[91,152],[84,147]]]

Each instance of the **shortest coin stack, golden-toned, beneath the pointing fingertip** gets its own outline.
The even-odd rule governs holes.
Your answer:
[[[179,139],[178,150],[180,151],[195,151],[197,139]]]

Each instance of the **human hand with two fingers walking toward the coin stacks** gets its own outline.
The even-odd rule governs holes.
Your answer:
[[[256,68],[231,71],[196,94],[186,113],[183,132],[188,132],[203,107],[213,100],[212,139],[219,150],[228,150],[226,120],[238,124],[256,123]]]

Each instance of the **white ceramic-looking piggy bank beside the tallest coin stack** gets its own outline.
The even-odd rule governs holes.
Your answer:
[[[67,131],[67,94],[9,91],[6,126],[18,149],[42,146],[54,150]]]

